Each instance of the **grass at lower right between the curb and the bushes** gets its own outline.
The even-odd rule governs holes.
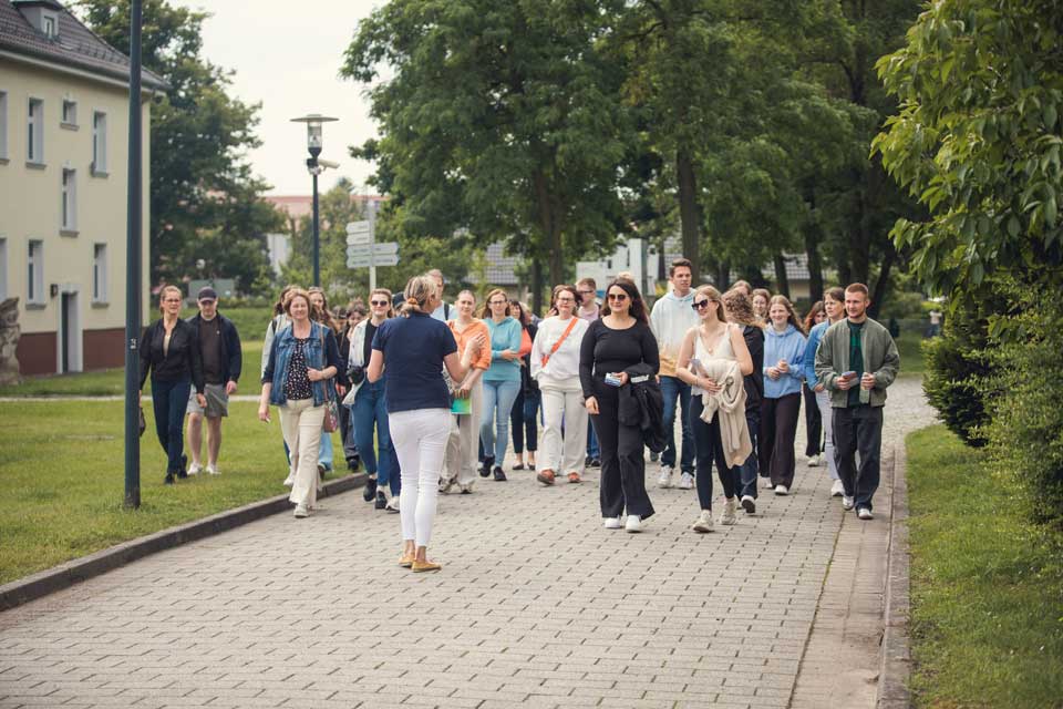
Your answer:
[[[916,706],[1063,706],[1059,548],[945,427],[907,446]]]

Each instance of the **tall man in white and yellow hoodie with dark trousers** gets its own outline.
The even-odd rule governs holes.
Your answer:
[[[661,394],[664,397],[664,430],[668,432],[668,448],[661,453],[661,472],[658,487],[671,487],[675,474],[675,401],[679,400],[682,412],[681,425],[682,454],[679,456],[679,486],[691,490],[694,486],[694,436],[690,429],[690,384],[675,374],[675,362],[683,346],[683,338],[690,328],[698,326],[698,312],[693,309],[694,291],[690,288],[693,267],[690,260],[677,258],[668,269],[668,279],[672,289],[653,304],[650,314],[650,329],[657,338],[661,354]]]

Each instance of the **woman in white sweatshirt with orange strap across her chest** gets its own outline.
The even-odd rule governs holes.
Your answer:
[[[580,482],[587,441],[579,346],[590,326],[575,314],[579,305],[575,286],[556,286],[550,305],[557,315],[539,322],[530,354],[532,378],[543,393],[545,425],[536,480],[544,485],[553,485],[559,473],[570,483]]]

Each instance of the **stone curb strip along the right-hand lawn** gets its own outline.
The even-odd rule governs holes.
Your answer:
[[[889,566],[886,576],[886,617],[883,665],[878,682],[879,709],[908,709],[911,691],[910,575],[908,548],[908,452],[901,440],[895,449],[892,524],[889,533]]]

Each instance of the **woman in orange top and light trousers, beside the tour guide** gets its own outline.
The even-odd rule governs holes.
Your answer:
[[[440,492],[448,493],[457,483],[462,494],[473,492],[476,480],[477,452],[479,445],[479,419],[484,409],[484,384],[481,376],[491,367],[491,335],[483,320],[473,317],[476,309],[476,296],[469,290],[457,294],[454,310],[457,317],[446,325],[454,333],[458,351],[478,335],[484,337],[485,346],[473,360],[468,373],[461,383],[454,384],[454,399],[469,401],[468,413],[455,413],[454,427],[446,442],[446,458],[443,463],[443,476],[440,479]]]

